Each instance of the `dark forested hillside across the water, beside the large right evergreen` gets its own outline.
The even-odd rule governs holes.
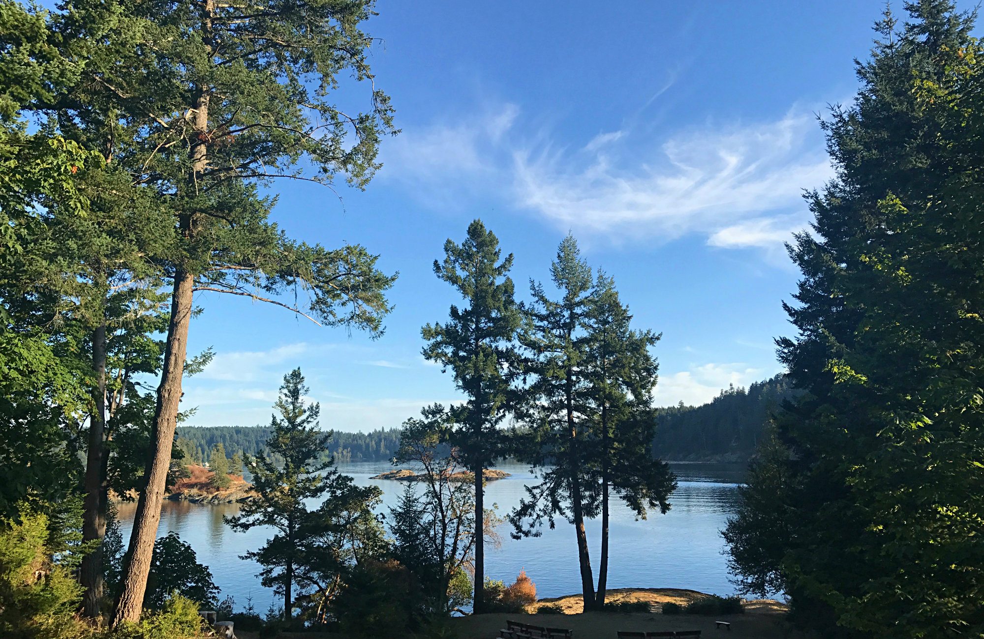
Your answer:
[[[663,459],[746,461],[769,415],[791,396],[789,382],[777,375],[747,389],[726,388],[703,406],[660,408],[653,452]]]

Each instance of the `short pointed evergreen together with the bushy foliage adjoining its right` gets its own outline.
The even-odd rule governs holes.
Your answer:
[[[379,489],[356,487],[331,459],[319,461],[332,433],[319,430],[320,406],[304,401],[307,392],[300,369],[284,376],[266,452],[247,459],[257,497],[226,521],[235,530],[276,531],[263,548],[244,556],[263,565],[263,585],[283,595],[285,619],[299,603],[306,616],[322,622],[339,578],[352,564],[385,552],[385,543],[373,513]],[[319,498],[322,505],[309,510],[307,502]],[[302,586],[296,598],[295,584]]]

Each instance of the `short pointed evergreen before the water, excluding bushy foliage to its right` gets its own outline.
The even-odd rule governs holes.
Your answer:
[[[263,566],[263,585],[283,595],[284,619],[293,610],[294,570],[303,554],[302,530],[311,518],[305,502],[323,496],[342,481],[331,460],[318,461],[332,433],[319,430],[321,405],[307,404],[307,392],[300,369],[283,376],[275,404],[279,417],[272,418],[273,433],[267,441],[269,452],[247,459],[256,497],[243,503],[239,514],[226,518],[234,530],[270,526],[277,531],[262,549],[247,552],[243,558],[257,560]],[[279,465],[271,459],[273,454],[282,459]]]

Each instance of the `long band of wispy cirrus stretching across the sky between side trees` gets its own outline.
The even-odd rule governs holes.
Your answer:
[[[387,160],[389,175],[436,208],[492,197],[614,242],[696,234],[716,248],[773,252],[807,226],[803,189],[832,175],[807,108],[662,138],[629,123],[583,145],[528,120],[507,102],[407,127]]]

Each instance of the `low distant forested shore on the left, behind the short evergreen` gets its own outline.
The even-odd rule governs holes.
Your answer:
[[[208,462],[212,447],[221,443],[226,454],[255,455],[270,437],[268,426],[180,426],[177,443],[194,462]],[[400,429],[379,429],[369,433],[336,431],[329,440],[326,455],[336,461],[387,461],[400,447]]]

